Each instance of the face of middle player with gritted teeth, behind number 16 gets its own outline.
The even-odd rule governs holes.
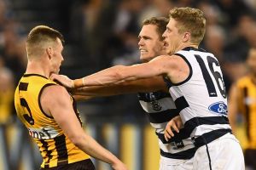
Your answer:
[[[154,57],[166,54],[164,42],[160,40],[160,35],[157,33],[157,26],[145,25],[138,36],[140,59],[143,62],[148,62]]]

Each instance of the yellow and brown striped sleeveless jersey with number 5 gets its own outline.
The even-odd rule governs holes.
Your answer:
[[[17,115],[25,124],[30,136],[38,144],[43,157],[41,167],[56,167],[90,158],[68,139],[54,118],[46,115],[42,110],[40,96],[44,88],[52,85],[56,85],[56,83],[46,77],[25,74],[21,77],[15,90]],[[73,100],[73,109],[81,122],[75,101],[72,97],[70,99]]]

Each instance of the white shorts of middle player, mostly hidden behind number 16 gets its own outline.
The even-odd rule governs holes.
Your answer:
[[[193,169],[192,159],[180,160],[160,156],[160,170],[191,170]]]

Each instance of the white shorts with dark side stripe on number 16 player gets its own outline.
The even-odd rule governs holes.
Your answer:
[[[193,169],[210,169],[207,147],[211,157],[212,170],[245,169],[241,145],[236,137],[230,133],[196,150],[193,158]]]

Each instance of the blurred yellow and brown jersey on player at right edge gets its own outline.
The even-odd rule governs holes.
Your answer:
[[[256,149],[256,84],[251,77],[242,77],[236,82],[238,107],[244,117],[248,149]]]

